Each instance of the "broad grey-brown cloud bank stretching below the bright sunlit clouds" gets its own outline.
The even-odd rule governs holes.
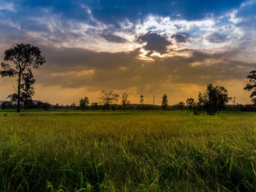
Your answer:
[[[244,79],[249,69],[255,66],[222,59],[224,54],[186,51],[190,51],[191,56],[156,58],[156,61],[148,63],[136,58],[138,50],[129,53],[95,53],[83,49],[43,47],[42,53],[48,62],[41,71],[44,75],[39,76],[37,82],[64,88],[87,86],[91,91],[136,87],[146,93],[160,93],[166,82],[206,85],[217,80]],[[229,55],[233,54],[236,52],[230,51]],[[194,63],[198,65],[192,66]],[[151,88],[146,88],[148,85]]]

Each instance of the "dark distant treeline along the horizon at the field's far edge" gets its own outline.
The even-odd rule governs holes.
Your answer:
[[[168,105],[167,94],[162,95],[161,105],[155,104],[145,104],[144,96],[140,95],[138,101],[140,104],[131,104],[128,100],[128,93],[124,92],[118,95],[111,90],[100,91],[98,102],[91,102],[89,98],[85,96],[80,99],[79,105],[75,102],[70,105],[59,105],[59,104],[49,104],[48,102],[42,101],[22,101],[20,102],[20,108],[24,110],[29,109],[39,109],[39,110],[81,110],[81,111],[109,111],[109,110],[181,110],[192,112],[193,115],[200,115],[201,113],[206,113],[208,115],[219,114],[222,111],[247,111],[256,112],[256,105],[252,104],[237,104],[236,97],[228,96],[227,89],[222,86],[214,86],[212,84],[207,85],[206,91],[203,93],[198,93],[198,98],[195,100],[193,98],[187,99],[185,102],[180,101],[178,104]],[[14,110],[17,108],[15,99],[11,101],[4,101],[1,104],[1,110]],[[155,101],[155,97],[154,100]],[[228,104],[231,101],[232,104]]]

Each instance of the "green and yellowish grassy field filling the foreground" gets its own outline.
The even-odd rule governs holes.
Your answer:
[[[255,191],[256,113],[0,112],[0,191]]]

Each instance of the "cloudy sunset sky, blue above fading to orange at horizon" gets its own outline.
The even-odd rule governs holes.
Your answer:
[[[242,104],[256,69],[256,1],[0,0],[0,61],[19,43],[37,46],[46,64],[34,70],[34,99],[78,104],[99,91],[126,91],[160,104],[197,99],[222,85]],[[0,100],[14,92],[0,77]]]

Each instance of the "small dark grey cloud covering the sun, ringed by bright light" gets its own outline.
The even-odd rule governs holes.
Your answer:
[[[138,37],[137,41],[140,43],[146,42],[146,45],[144,46],[145,50],[157,51],[157,53],[161,54],[166,53],[167,46],[171,45],[171,42],[168,41],[167,37],[151,31]]]

